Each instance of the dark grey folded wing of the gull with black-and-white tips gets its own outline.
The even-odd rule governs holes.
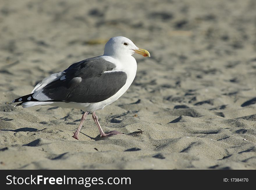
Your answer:
[[[101,102],[117,93],[126,83],[127,74],[113,70],[115,67],[115,64],[101,57],[85,59],[64,70],[58,80],[30,95],[20,97],[22,99],[15,99],[15,102]]]

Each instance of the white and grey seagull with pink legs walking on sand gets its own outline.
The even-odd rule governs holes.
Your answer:
[[[101,137],[122,134],[115,130],[104,133],[95,111],[102,110],[127,91],[137,70],[137,62],[131,56],[134,53],[150,57],[147,50],[138,48],[130,39],[112,37],[106,43],[103,55],[84,59],[62,72],[51,74],[38,83],[30,94],[13,100],[20,102],[14,107],[50,105],[81,109],[84,113],[72,136],[77,140],[89,112]]]

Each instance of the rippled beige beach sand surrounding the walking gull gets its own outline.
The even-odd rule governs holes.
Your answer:
[[[2,0],[0,169],[256,169],[255,9],[253,0]],[[13,107],[114,36],[151,54],[134,55],[133,84],[96,112],[104,131],[127,135],[99,137],[89,114],[76,140],[81,110]]]

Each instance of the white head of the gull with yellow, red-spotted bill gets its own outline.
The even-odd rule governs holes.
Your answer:
[[[147,50],[138,48],[130,39],[123,36],[110,38],[104,49],[104,55],[113,57],[131,56],[134,53],[150,57],[150,53]]]

